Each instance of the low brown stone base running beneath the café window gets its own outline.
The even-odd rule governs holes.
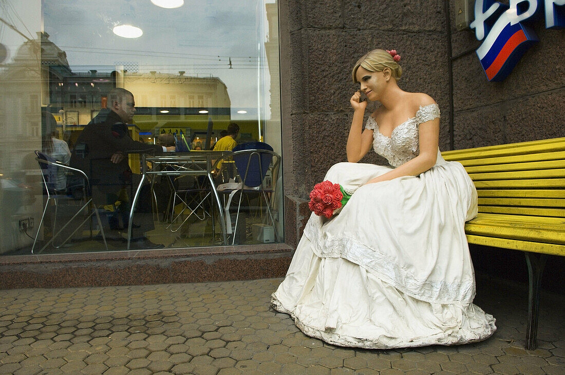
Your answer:
[[[283,277],[285,244],[0,257],[0,289],[201,283]]]

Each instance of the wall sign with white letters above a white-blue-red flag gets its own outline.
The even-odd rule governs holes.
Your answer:
[[[503,81],[529,47],[538,42],[536,33],[524,23],[545,14],[547,29],[565,27],[565,0],[510,0],[505,5],[494,0],[475,1],[477,56],[489,81]]]

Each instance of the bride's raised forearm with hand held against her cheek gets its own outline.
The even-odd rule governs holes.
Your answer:
[[[371,149],[373,143],[373,131],[365,129],[363,131],[363,116],[367,108],[367,100],[360,101],[361,93],[355,92],[349,102],[353,107],[353,121],[351,121],[351,129],[347,137],[347,161],[356,163]]]

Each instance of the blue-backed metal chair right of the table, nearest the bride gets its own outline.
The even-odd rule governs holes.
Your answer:
[[[270,145],[263,142],[250,142],[249,144],[238,145],[233,149],[232,155],[225,156],[217,160],[215,165],[224,164],[226,161],[233,161],[240,182],[218,184],[216,190],[226,195],[225,202],[225,220],[226,231],[228,235],[232,235],[232,245],[236,242],[236,233],[238,225],[240,225],[241,203],[244,196],[257,196],[260,204],[263,201],[268,214],[268,219],[275,232],[275,239],[279,241],[277,226],[271,211],[272,195],[275,192],[274,182],[268,182],[267,177],[277,176],[280,167],[280,156],[273,152]],[[236,222],[232,229],[230,210],[233,197],[239,193],[237,204]],[[225,201],[225,200],[224,200]],[[249,200],[248,200],[249,201]],[[244,228],[245,230],[245,228]]]

